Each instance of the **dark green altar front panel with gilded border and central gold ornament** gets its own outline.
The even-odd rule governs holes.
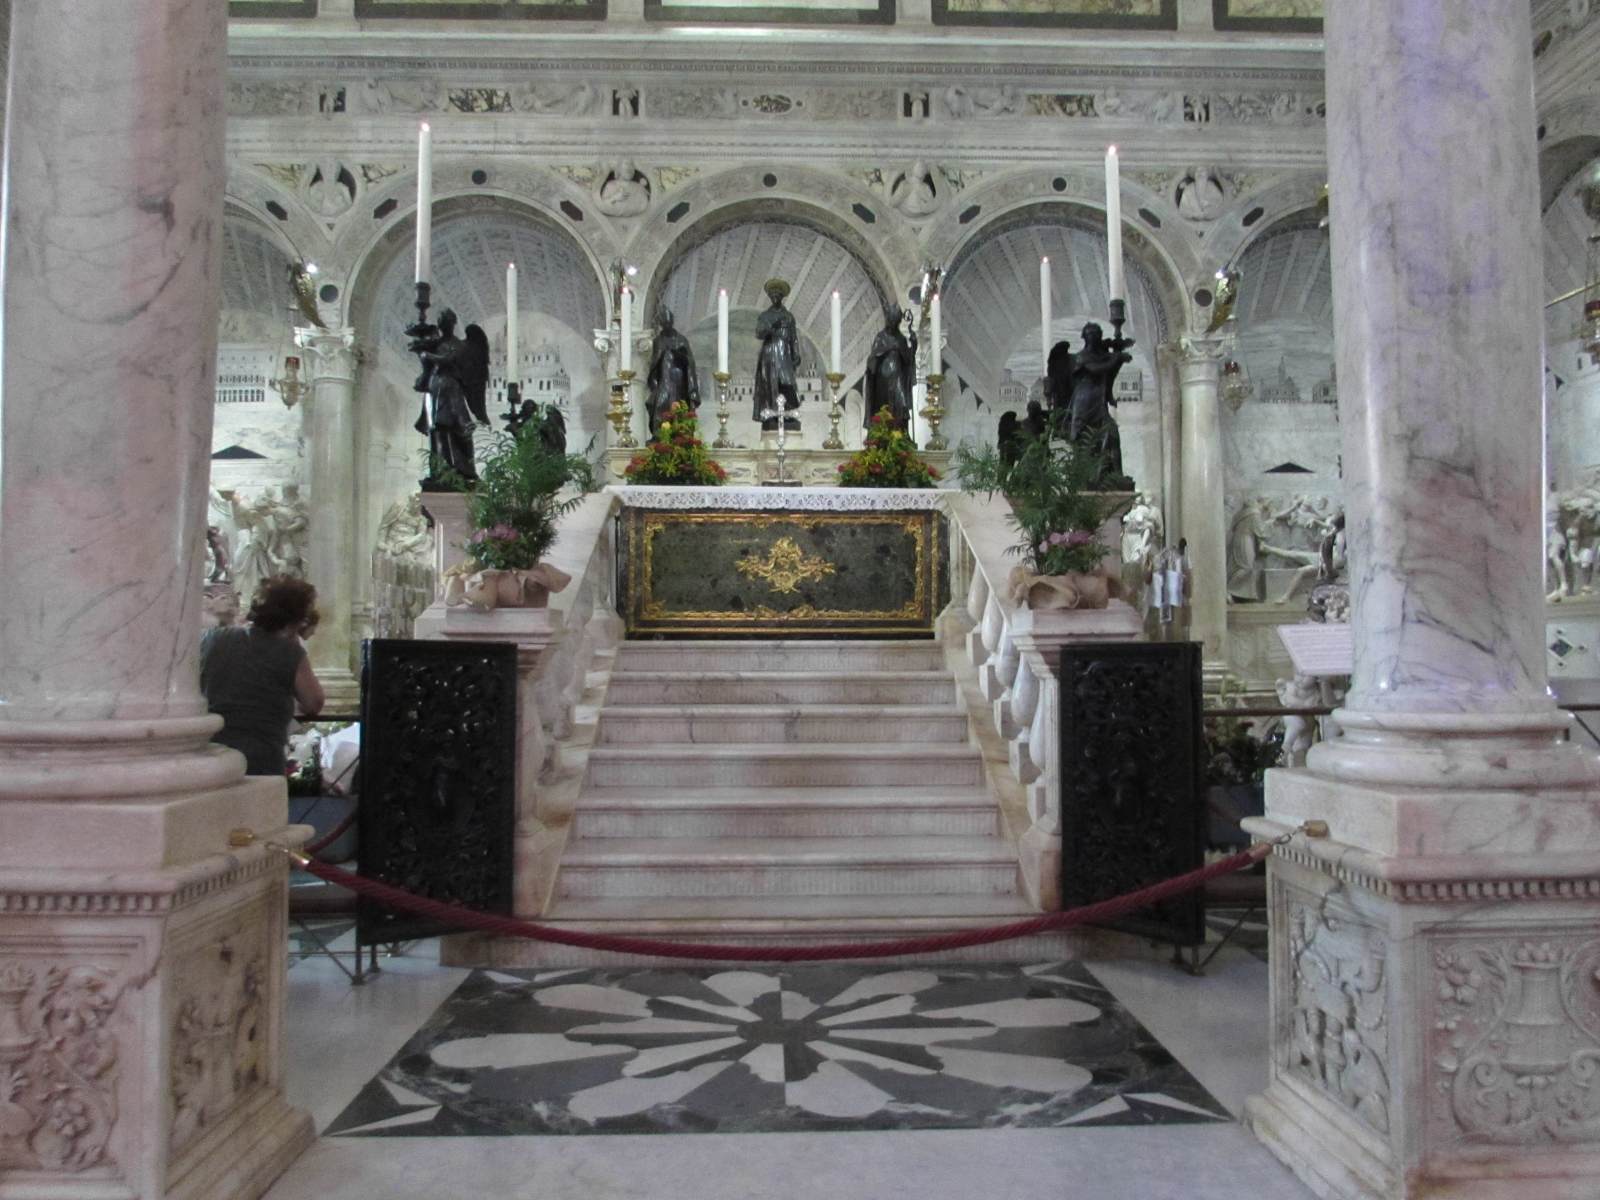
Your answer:
[[[624,509],[629,637],[931,637],[944,515]]]

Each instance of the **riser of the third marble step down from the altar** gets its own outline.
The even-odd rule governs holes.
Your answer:
[[[603,746],[645,746],[651,742],[965,742],[966,714],[941,717],[830,717],[830,715],[717,715],[685,712],[600,717]]]

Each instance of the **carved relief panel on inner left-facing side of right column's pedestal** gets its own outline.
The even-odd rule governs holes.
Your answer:
[[[1291,901],[1286,1021],[1280,1062],[1389,1133],[1387,976],[1384,936],[1328,910]]]

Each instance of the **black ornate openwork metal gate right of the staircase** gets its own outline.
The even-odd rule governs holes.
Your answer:
[[[1061,898],[1093,904],[1205,859],[1200,645],[1126,642],[1061,651]],[[1205,899],[1178,896],[1112,928],[1197,946]]]

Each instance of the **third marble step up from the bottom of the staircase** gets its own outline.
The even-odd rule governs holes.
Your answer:
[[[979,789],[597,787],[573,813],[573,837],[982,837],[998,821]]]

